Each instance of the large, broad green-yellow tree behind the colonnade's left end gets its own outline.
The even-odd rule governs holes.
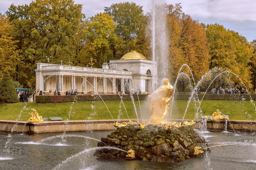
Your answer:
[[[34,77],[36,62],[67,62],[76,55],[76,38],[81,23],[82,6],[73,0],[36,0],[7,11],[13,35],[18,40],[21,62],[16,65],[19,82],[27,84]],[[34,81],[34,80],[33,80]]]

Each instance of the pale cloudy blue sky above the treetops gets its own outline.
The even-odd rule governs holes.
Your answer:
[[[82,4],[82,13],[91,17],[103,13],[104,7],[119,2],[135,2],[143,6],[146,13],[150,10],[153,0],[74,0],[75,4]],[[204,24],[221,24],[226,29],[238,32],[249,42],[256,40],[256,3],[255,0],[155,0],[167,4],[181,3],[182,11],[190,15],[193,20]],[[11,4],[15,6],[30,4],[32,0],[0,0],[0,12],[5,13]]]

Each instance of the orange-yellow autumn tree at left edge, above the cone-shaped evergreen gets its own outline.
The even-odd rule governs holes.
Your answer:
[[[14,79],[18,78],[15,66],[20,62],[18,49],[12,37],[12,26],[8,24],[6,15],[0,13],[0,78],[6,71]]]

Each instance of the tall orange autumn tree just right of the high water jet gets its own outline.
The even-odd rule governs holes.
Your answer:
[[[180,4],[167,5],[170,35],[170,69],[173,82],[182,64],[187,64],[196,81],[209,71],[209,46],[202,24],[181,11]],[[183,71],[190,75],[188,67]]]

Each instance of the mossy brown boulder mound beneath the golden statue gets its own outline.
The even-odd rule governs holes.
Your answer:
[[[124,151],[104,147],[96,151],[96,155],[101,158],[174,163],[190,159],[194,147],[206,148],[207,143],[191,126],[173,127],[171,131],[166,131],[164,126],[148,125],[141,130],[135,126],[119,128],[107,137],[102,137],[98,146],[135,151],[135,158],[130,158],[126,157]]]

